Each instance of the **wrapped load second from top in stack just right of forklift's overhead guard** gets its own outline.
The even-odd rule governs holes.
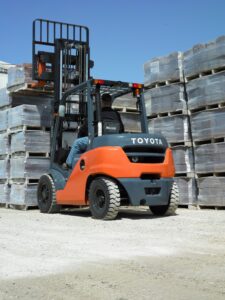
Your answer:
[[[181,84],[146,90],[144,98],[147,116],[187,110],[184,87]]]

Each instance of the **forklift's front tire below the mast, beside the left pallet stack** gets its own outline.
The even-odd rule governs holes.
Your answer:
[[[39,179],[37,188],[38,207],[42,213],[59,213],[61,206],[56,203],[55,184],[52,177],[44,174]]]

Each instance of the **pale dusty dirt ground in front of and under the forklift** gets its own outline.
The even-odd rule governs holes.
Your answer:
[[[225,211],[0,209],[0,299],[225,299]]]

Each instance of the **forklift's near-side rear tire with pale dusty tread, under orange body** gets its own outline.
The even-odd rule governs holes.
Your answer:
[[[94,179],[89,189],[89,201],[92,217],[102,220],[114,220],[120,207],[120,191],[117,183],[106,177]]]

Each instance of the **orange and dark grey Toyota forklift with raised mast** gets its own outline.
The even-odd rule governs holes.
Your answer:
[[[33,79],[39,88],[54,90],[50,169],[37,188],[40,211],[89,207],[92,217],[102,220],[115,219],[121,206],[148,206],[159,216],[175,214],[179,192],[173,155],[161,134],[149,132],[143,85],[94,79],[93,66],[87,27],[43,19],[33,22]],[[131,95],[138,131],[125,126],[120,132],[115,121],[102,119],[105,93],[113,101]],[[73,168],[65,169],[84,122],[87,150],[75,156]]]

